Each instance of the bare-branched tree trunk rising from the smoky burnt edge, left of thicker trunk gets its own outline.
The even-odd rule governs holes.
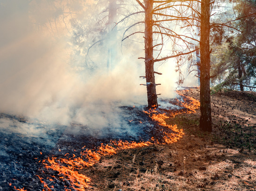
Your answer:
[[[145,70],[147,82],[148,108],[158,107],[155,89],[153,57],[153,2],[144,0],[145,4]]]

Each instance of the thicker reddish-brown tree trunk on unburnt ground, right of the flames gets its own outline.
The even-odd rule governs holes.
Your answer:
[[[210,101],[210,0],[201,1],[201,77],[200,77],[200,129],[212,131],[211,101]]]

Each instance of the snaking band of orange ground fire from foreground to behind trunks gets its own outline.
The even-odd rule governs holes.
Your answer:
[[[184,112],[195,112],[195,109],[199,107],[199,102],[191,97],[184,96],[182,91],[179,91],[178,94],[182,97],[182,101],[175,99],[175,102],[177,105],[182,106],[183,109],[180,111],[170,111],[171,113],[169,115],[174,116]],[[62,185],[65,191],[84,191],[91,187],[91,178],[80,173],[80,170],[85,167],[93,166],[100,161],[102,156],[116,154],[118,150],[149,146],[152,144],[174,143],[184,134],[183,130],[178,129],[176,125],[168,125],[166,123],[165,120],[169,118],[167,114],[161,113],[156,109],[149,109],[148,111],[144,111],[144,113],[161,127],[158,131],[162,131],[162,138],[151,137],[148,141],[140,142],[110,140],[107,144],[101,143],[101,146],[95,149],[85,149],[85,146],[83,146],[79,157],[75,154],[66,153],[63,158],[52,157],[44,159],[41,162],[43,164],[41,169],[42,175],[36,175],[44,187],[43,191],[54,191],[55,187],[57,187],[58,183],[60,184],[61,181],[63,182]],[[54,175],[47,177],[47,174]],[[42,176],[44,178],[42,178]],[[19,190],[16,187],[15,189]],[[20,191],[26,190],[21,189]]]

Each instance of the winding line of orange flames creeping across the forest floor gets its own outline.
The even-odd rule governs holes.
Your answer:
[[[200,107],[200,102],[195,100],[194,98],[184,96],[181,91],[178,91],[178,94],[184,97],[183,98],[184,102],[176,100],[177,104],[179,104],[184,108],[187,108],[188,109],[187,113],[195,113],[195,109]],[[184,134],[183,129],[178,129],[176,125],[168,125],[166,123],[165,120],[169,118],[166,114],[160,114],[155,108],[149,109],[148,111],[144,111],[144,112],[148,114],[153,121],[157,121],[158,124],[161,125],[162,127],[169,128],[174,132],[174,133],[167,133],[163,130],[163,134],[164,134],[163,144],[174,143],[178,141]],[[180,113],[182,112],[176,112],[175,114],[172,114],[172,116],[175,116]],[[159,141],[156,140],[154,137],[152,137],[150,141],[145,141],[145,142],[141,141],[138,143],[122,141],[122,140],[119,140],[119,141],[110,140],[109,144],[102,143],[101,146],[97,148],[97,151],[86,149],[85,151],[81,152],[81,157],[76,157],[73,154],[73,157],[69,159],[68,158],[57,159],[56,157],[53,157],[52,159],[48,158],[47,160],[43,160],[42,162],[47,169],[58,171],[59,178],[67,179],[74,190],[84,191],[86,188],[90,187],[89,183],[91,179],[83,174],[80,174],[76,169],[82,169],[83,167],[93,166],[95,163],[97,163],[101,159],[102,156],[116,154],[118,150],[149,146],[153,143],[159,144]],[[66,157],[68,155],[69,155],[68,153],[65,154]],[[47,189],[47,191],[51,191],[51,189],[47,186],[47,184],[41,178],[40,178],[40,181],[44,185],[44,187]],[[71,191],[70,189],[67,188],[67,186],[65,187],[66,187],[65,191]],[[20,191],[25,191],[25,190],[20,190]]]

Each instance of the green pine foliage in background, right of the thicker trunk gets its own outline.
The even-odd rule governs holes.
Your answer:
[[[215,42],[211,65],[211,76],[216,76],[211,81],[214,92],[225,88],[243,91],[243,85],[256,85],[256,3],[239,0],[235,11],[240,19],[231,26],[240,32],[226,33],[222,44]]]

